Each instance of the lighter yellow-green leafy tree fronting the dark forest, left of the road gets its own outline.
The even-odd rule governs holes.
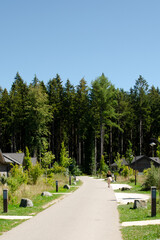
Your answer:
[[[27,107],[27,146],[30,146],[32,154],[37,155],[40,159],[49,139],[49,123],[52,120],[52,114],[48,95],[39,82],[29,86]]]

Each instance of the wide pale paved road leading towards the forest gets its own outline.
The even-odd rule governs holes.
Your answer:
[[[114,192],[106,182],[81,177],[73,194],[0,236],[0,240],[120,240]]]

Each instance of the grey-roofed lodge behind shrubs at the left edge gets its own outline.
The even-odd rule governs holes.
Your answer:
[[[9,171],[12,168],[12,165],[21,165],[24,164],[24,153],[2,153],[0,150],[0,175],[8,176]],[[33,165],[36,164],[37,159],[31,158]]]

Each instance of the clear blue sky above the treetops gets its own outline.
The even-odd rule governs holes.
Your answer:
[[[128,91],[160,87],[160,0],[0,0],[0,86],[16,73],[46,84],[58,73],[90,86],[102,73]]]

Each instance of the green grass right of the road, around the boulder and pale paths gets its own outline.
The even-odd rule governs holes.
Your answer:
[[[118,182],[129,184],[132,188],[131,190],[125,191],[125,193],[141,193],[141,194],[151,194],[151,191],[142,190],[142,183],[135,185],[134,182]],[[121,192],[116,190],[116,192]],[[119,205],[119,216],[120,222],[129,221],[143,221],[143,220],[153,220],[160,219],[160,204],[159,195],[157,191],[157,214],[155,217],[151,217],[151,201],[147,203],[147,208],[133,209],[133,203],[127,205]],[[122,236],[124,240],[153,240],[160,239],[160,225],[147,225],[147,226],[130,226],[121,228]]]

